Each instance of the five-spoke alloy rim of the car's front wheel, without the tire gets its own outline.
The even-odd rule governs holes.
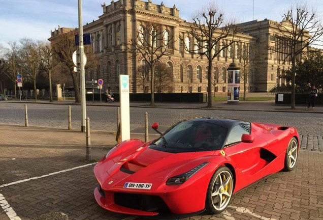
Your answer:
[[[233,179],[228,171],[219,173],[212,186],[212,203],[217,211],[225,209],[231,199]]]

